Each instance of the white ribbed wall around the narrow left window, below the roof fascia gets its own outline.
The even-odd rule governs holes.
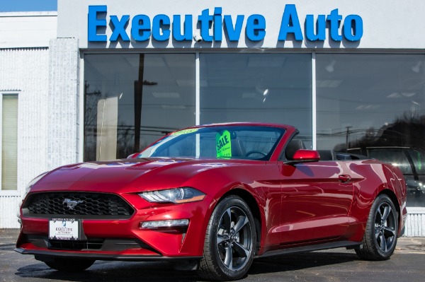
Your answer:
[[[0,228],[18,228],[26,184],[47,170],[48,74],[47,47],[0,49],[0,92],[18,93],[18,191],[0,191]]]

